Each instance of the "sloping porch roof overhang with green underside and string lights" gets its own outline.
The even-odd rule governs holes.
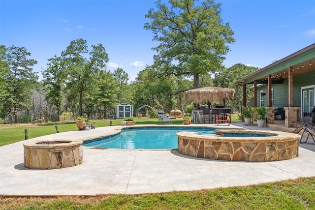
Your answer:
[[[311,63],[311,65],[310,65]],[[315,71],[315,43],[290,55],[282,60],[278,60],[258,71],[238,80],[243,84],[252,84],[255,80],[257,83],[266,83],[268,75],[271,75],[272,80],[279,81],[288,78],[288,68],[292,66],[293,77]],[[303,67],[304,66],[304,67]]]

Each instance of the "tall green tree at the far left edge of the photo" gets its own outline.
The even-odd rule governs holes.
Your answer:
[[[2,62],[6,64],[5,69],[8,71],[3,75],[7,86],[3,87],[4,103],[3,115],[8,115],[14,109],[14,123],[18,123],[18,108],[22,108],[24,104],[30,99],[30,90],[32,84],[37,82],[36,73],[32,72],[32,66],[37,61],[29,59],[31,53],[27,52],[24,47],[1,47],[4,51]],[[2,64],[3,64],[2,63]]]

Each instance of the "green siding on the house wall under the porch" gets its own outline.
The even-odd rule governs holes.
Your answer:
[[[293,106],[301,106],[301,87],[315,85],[315,71],[293,77]],[[273,84],[274,107],[288,106],[288,80],[283,84]],[[264,95],[264,106],[268,106],[268,87],[267,85],[257,87],[257,105],[260,104],[260,90],[266,92]]]

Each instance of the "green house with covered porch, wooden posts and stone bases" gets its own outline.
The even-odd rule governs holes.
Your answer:
[[[296,127],[315,106],[315,43],[237,82],[243,86],[244,106],[247,106],[246,87],[250,85],[254,107],[267,109],[267,123],[274,123],[275,110],[284,107],[285,127]]]

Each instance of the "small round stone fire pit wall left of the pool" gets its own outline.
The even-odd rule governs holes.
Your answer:
[[[24,144],[24,166],[30,169],[57,169],[83,161],[82,141],[52,140]]]

